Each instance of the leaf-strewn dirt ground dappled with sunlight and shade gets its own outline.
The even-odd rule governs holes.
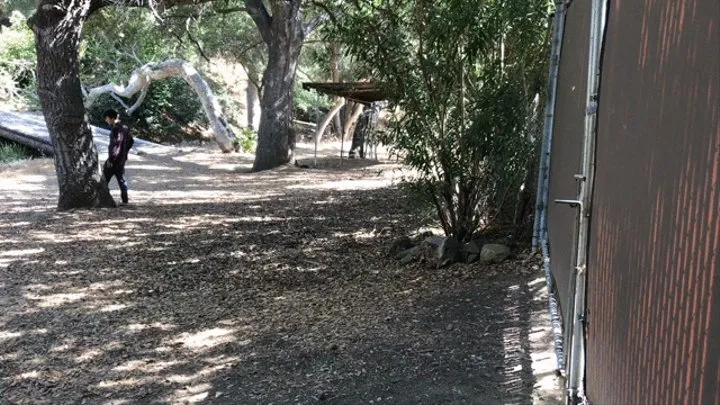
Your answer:
[[[331,161],[133,157],[132,206],[68,213],[0,168],[0,403],[557,403],[532,263],[399,265],[396,167]]]

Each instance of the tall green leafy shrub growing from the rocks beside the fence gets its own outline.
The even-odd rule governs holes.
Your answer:
[[[503,219],[533,157],[550,11],[547,0],[365,1],[333,31],[395,106],[381,140],[460,240]]]

